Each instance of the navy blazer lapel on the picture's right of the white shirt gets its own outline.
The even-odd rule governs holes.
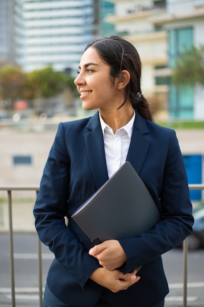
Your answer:
[[[133,165],[137,174],[139,174],[142,168],[149,149],[150,140],[144,136],[144,134],[148,133],[149,130],[144,118],[136,112],[133,134],[126,160]]]

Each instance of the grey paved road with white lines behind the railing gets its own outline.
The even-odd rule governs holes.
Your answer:
[[[8,234],[0,233],[0,307],[11,307]],[[16,307],[39,307],[37,238],[33,233],[14,235]],[[42,245],[43,283],[52,253]],[[170,293],[165,307],[182,307],[182,251],[162,256]],[[188,307],[204,307],[204,250],[188,253]]]

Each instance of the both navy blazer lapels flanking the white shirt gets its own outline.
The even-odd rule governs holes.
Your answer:
[[[96,189],[99,189],[108,180],[108,171],[98,112],[91,117],[87,128],[89,132],[84,134],[84,139],[93,179]],[[133,134],[126,160],[133,165],[138,174],[150,145],[150,140],[145,136],[148,133],[149,130],[144,118],[136,112]]]

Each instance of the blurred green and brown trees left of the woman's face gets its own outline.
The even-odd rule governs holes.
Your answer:
[[[0,99],[14,101],[50,98],[67,88],[75,92],[74,77],[66,72],[56,72],[51,66],[25,73],[18,66],[0,68]]]

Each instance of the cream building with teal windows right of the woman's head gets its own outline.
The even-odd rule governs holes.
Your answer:
[[[204,0],[110,0],[115,32],[136,46],[143,64],[142,89],[169,118],[204,119],[204,89],[176,88],[171,82],[178,55],[204,44]]]

